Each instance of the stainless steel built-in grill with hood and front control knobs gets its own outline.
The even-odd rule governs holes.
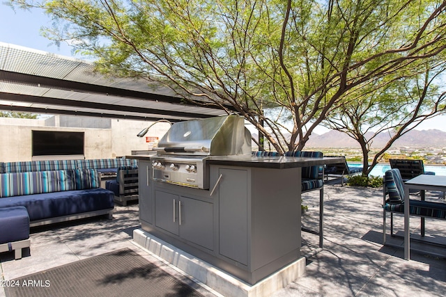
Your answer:
[[[151,157],[153,179],[193,188],[209,188],[209,156],[251,154],[251,133],[238,115],[177,122]]]

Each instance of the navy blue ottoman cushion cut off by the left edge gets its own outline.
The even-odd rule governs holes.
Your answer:
[[[0,244],[29,239],[29,216],[26,208],[0,208],[0,228]]]

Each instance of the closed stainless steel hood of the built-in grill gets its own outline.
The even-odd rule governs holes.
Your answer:
[[[238,115],[176,122],[156,150],[157,154],[249,155],[251,132]]]

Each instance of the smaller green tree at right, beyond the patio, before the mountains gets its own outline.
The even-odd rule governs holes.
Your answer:
[[[343,131],[359,143],[362,150],[363,175],[376,166],[385,152],[423,120],[446,112],[446,88],[439,86],[446,71],[441,55],[424,59],[411,72],[397,72],[379,83],[347,94],[351,101],[324,120],[325,125]],[[424,71],[423,71],[424,67]],[[369,156],[376,137],[387,134],[389,140],[378,152]],[[420,139],[422,143],[422,139]],[[371,163],[369,159],[371,157]]]

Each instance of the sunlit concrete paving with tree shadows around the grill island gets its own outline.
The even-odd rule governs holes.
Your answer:
[[[403,240],[388,241],[401,246],[383,246],[382,188],[359,188],[328,184],[325,186],[325,233],[322,252],[307,259],[305,275],[276,291],[272,296],[445,296],[446,249],[444,256],[433,257],[412,252],[412,259],[403,259]],[[439,200],[440,193],[427,193],[428,199]],[[318,191],[303,195],[309,211],[302,224],[317,230]],[[403,217],[397,216],[395,231],[402,234]],[[389,220],[387,220],[389,222]],[[420,218],[411,218],[411,232],[419,234]],[[89,218],[77,222],[50,225],[31,230],[31,248],[24,257],[14,260],[13,252],[0,254],[0,280],[13,280],[30,273],[79,261],[121,248],[131,248],[193,285],[205,296],[215,291],[197,286],[178,268],[135,246],[133,230],[141,227],[138,205],[116,207],[113,220]],[[416,235],[414,235],[416,236]],[[426,220],[426,236],[445,241],[444,220]],[[317,248],[318,236],[302,232],[302,253]],[[415,244],[413,245],[415,246]],[[423,244],[421,249],[428,250]],[[0,297],[5,296],[0,288]]]

